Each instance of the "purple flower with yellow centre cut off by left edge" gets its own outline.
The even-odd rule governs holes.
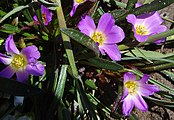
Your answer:
[[[17,80],[25,82],[29,74],[34,76],[44,74],[44,66],[37,61],[40,53],[36,46],[28,46],[19,52],[13,35],[9,35],[5,42],[5,49],[7,55],[0,53],[0,61],[8,66],[0,72],[1,77],[11,78],[16,73]]]

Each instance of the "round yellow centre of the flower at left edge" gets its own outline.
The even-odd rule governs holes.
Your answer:
[[[27,65],[27,59],[24,55],[14,55],[11,65],[15,69],[24,68]]]

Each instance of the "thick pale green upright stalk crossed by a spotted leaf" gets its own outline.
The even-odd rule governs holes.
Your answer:
[[[65,22],[65,17],[63,14],[62,6],[61,6],[61,1],[55,0],[55,2],[57,2],[59,4],[58,8],[56,9],[59,27],[60,28],[67,28],[66,22]],[[65,51],[66,51],[66,54],[68,57],[68,61],[69,61],[69,64],[71,66],[71,69],[72,69],[73,77],[78,79],[78,71],[77,71],[77,67],[75,65],[73,51],[71,49],[70,38],[62,32],[61,32],[61,35],[62,35],[62,39],[64,42],[64,47],[65,47]]]

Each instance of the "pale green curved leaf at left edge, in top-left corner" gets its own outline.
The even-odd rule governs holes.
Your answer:
[[[8,17],[10,17],[11,15],[25,9],[25,8],[28,8],[29,6],[28,5],[25,5],[25,6],[18,6],[16,8],[14,8],[12,11],[10,11],[9,13],[7,13],[2,19],[0,19],[0,23],[2,23],[5,19],[7,19]]]

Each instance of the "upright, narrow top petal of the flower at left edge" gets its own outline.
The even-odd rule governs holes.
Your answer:
[[[19,50],[17,49],[14,40],[13,40],[13,35],[9,35],[9,37],[5,41],[5,49],[7,53],[12,53],[12,54],[19,54]]]

